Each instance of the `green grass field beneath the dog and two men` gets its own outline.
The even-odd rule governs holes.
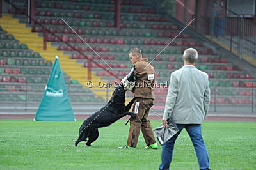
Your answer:
[[[100,128],[99,139],[74,146],[83,120],[0,120],[0,169],[158,169],[161,148],[145,150],[140,135],[136,150],[120,150],[129,125],[120,120]],[[152,121],[153,128],[160,121]],[[211,169],[256,169],[256,123],[205,121],[202,125]],[[180,137],[193,148],[186,130]],[[199,169],[195,153],[177,139],[172,169]]]

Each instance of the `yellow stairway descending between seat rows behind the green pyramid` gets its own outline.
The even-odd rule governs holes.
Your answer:
[[[51,42],[47,42],[47,50],[43,50],[43,38],[38,36],[38,33],[31,31],[31,28],[26,27],[26,24],[19,23],[19,19],[13,19],[12,14],[4,14],[0,18],[0,25],[8,33],[15,36],[20,43],[25,43],[28,48],[34,52],[38,52],[42,58],[47,61],[54,62],[55,56],[59,56],[61,70],[70,75],[70,79],[76,79],[79,83],[83,84],[84,88],[88,88],[87,81],[87,68],[84,68],[81,63],[77,63],[76,59],[70,59],[70,56],[64,54],[63,51],[58,50],[57,47],[51,47]],[[94,75],[92,72],[92,82],[107,83],[108,81],[100,80],[100,76]],[[106,90],[102,90],[98,86],[91,88],[92,92],[97,96],[103,97],[106,100]]]

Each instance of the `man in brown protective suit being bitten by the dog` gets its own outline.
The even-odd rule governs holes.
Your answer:
[[[127,145],[119,148],[136,148],[140,130],[147,146],[145,148],[157,149],[152,126],[148,120],[150,107],[154,105],[154,67],[148,63],[147,58],[142,58],[141,50],[131,49],[129,52],[130,61],[133,64],[133,71],[129,73],[129,79],[134,79],[134,106],[132,112],[136,113],[136,118],[130,119],[129,136]]]

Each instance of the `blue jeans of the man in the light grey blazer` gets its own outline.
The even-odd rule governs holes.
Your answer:
[[[201,132],[201,125],[185,125],[177,124],[179,128],[178,135],[185,128],[190,136],[190,139],[196,150],[196,157],[200,166],[200,169],[209,169],[209,157],[206,150],[204,140]],[[174,148],[175,140],[178,135],[174,135],[169,141],[163,144],[162,146],[162,163],[159,166],[159,169],[169,169],[170,163],[172,162],[172,151]],[[188,150],[190,150],[188,148]]]

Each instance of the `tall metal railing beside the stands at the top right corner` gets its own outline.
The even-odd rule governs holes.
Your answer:
[[[173,17],[177,20],[186,25],[195,17],[195,21],[189,26],[191,29],[209,36],[211,40],[218,38],[227,50],[240,59],[249,57],[250,61],[247,61],[256,66],[256,24],[252,19],[229,10],[225,1],[166,1],[175,1],[177,12]]]

